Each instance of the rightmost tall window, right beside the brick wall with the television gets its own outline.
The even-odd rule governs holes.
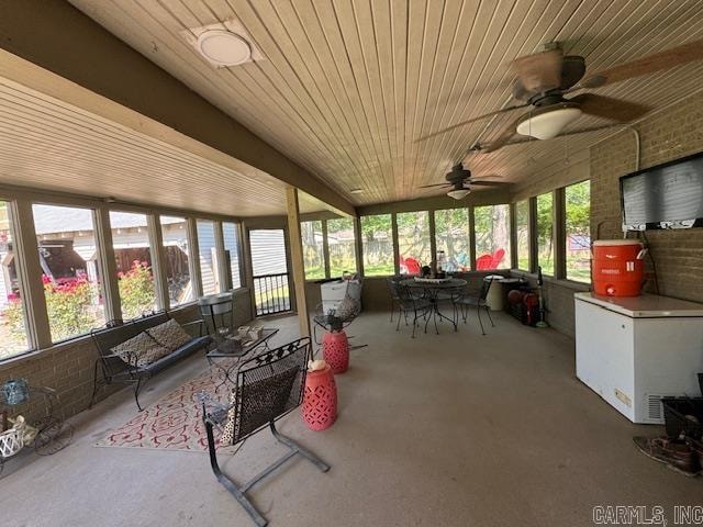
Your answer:
[[[565,189],[567,278],[591,280],[591,182],[582,181]]]

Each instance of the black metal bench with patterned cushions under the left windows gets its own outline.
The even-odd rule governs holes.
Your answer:
[[[142,332],[152,327],[158,326],[169,319],[168,313],[155,313],[146,315],[141,318],[126,322],[120,325],[110,325],[109,327],[96,329],[91,332],[92,340],[98,349],[99,357],[96,359],[93,371],[93,389],[92,397],[90,399],[90,406],[96,402],[96,395],[98,394],[98,385],[112,384],[113,382],[120,382],[124,384],[134,384],[134,400],[136,406],[142,412],[142,405],[140,404],[140,390],[144,386],[146,381],[154,377],[159,371],[168,368],[174,362],[189,356],[190,354],[203,349],[212,343],[210,335],[203,335],[203,329],[207,327],[205,322],[202,319],[181,324],[182,327],[199,326],[199,336],[192,337],[192,339],[186,343],[183,346],[175,349],[166,357],[163,357],[155,362],[145,366],[135,366],[127,363],[120,358],[119,355],[112,351],[115,346],[129,340],[132,337],[137,336]],[[102,370],[102,381],[99,378],[99,370]]]

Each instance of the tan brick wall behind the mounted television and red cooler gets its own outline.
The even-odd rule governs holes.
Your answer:
[[[640,135],[640,168],[703,150],[703,92],[635,127]],[[632,132],[623,131],[591,148],[591,231],[595,233],[600,225],[601,239],[622,237],[618,179],[634,170]],[[703,228],[647,231],[646,235],[659,293],[703,302]],[[652,291],[654,284],[647,289]]]

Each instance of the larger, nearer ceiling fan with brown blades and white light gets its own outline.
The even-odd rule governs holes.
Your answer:
[[[558,136],[568,124],[582,114],[595,115],[617,122],[628,122],[644,115],[650,108],[623,99],[588,92],[568,99],[563,96],[572,91],[600,88],[703,59],[702,38],[589,74],[584,77],[585,59],[583,57],[563,55],[558,43],[551,43],[545,47],[545,52],[521,57],[511,65],[517,76],[513,86],[513,97],[518,101],[523,101],[522,104],[515,104],[464,121],[424,136],[420,141],[444,134],[476,121],[528,106],[531,109],[520,117],[511,121],[501,131],[495,141],[488,145],[473,145],[472,149],[494,152],[505,146],[516,133],[538,139],[549,139]]]

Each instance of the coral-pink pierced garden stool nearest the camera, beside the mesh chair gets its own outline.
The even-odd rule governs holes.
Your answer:
[[[330,365],[308,372],[302,415],[308,428],[315,431],[330,428],[337,418],[337,385]]]

